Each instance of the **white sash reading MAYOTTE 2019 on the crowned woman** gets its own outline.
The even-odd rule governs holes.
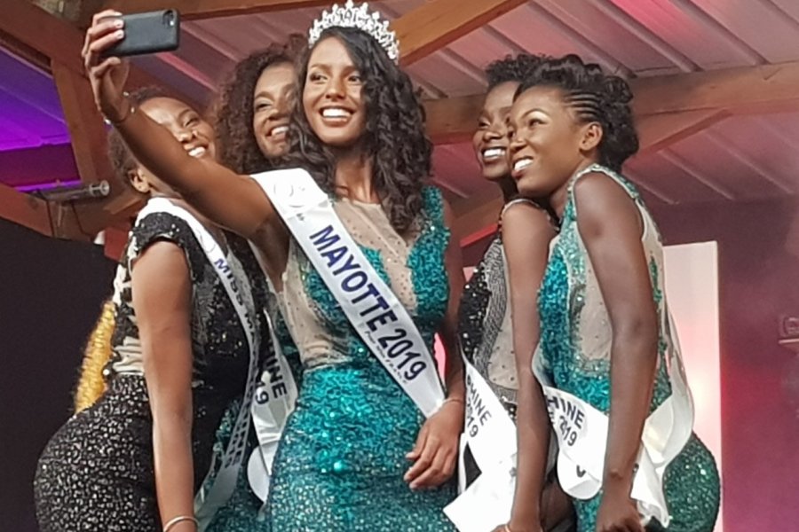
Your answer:
[[[429,418],[444,402],[430,351],[407,309],[344,228],[327,194],[302,168],[252,177],[272,201],[360,338]]]

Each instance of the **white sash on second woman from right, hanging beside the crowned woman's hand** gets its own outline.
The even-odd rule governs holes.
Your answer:
[[[479,477],[444,508],[461,532],[486,532],[510,519],[516,488],[516,425],[480,372],[463,357],[466,420],[463,438]]]

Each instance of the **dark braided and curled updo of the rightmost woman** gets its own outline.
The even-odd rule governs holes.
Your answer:
[[[603,135],[599,142],[599,162],[613,170],[638,151],[638,135],[629,102],[632,90],[621,77],[605,74],[595,63],[585,63],[569,54],[545,59],[518,87],[516,98],[535,86],[555,87],[564,91],[582,122],[597,121]]]

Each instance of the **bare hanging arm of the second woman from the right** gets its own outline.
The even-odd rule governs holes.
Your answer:
[[[502,215],[502,246],[508,261],[513,350],[518,372],[517,478],[510,515],[513,532],[541,529],[541,496],[550,446],[550,420],[541,385],[533,374],[539,340],[538,290],[547,267],[555,231],[549,216],[528,203],[508,207]]]

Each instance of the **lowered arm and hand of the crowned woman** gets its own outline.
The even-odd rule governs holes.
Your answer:
[[[454,216],[447,201],[444,201],[444,223],[451,228]],[[444,255],[449,282],[447,314],[439,326],[439,338],[444,346],[444,378],[447,386],[447,402],[428,419],[419,431],[414,449],[407,458],[415,460],[405,474],[411,489],[439,486],[455,472],[458,458],[458,442],[463,431],[463,409],[466,386],[463,382],[463,360],[458,348],[458,306],[463,293],[463,259],[460,240],[455,233],[449,239]]]

